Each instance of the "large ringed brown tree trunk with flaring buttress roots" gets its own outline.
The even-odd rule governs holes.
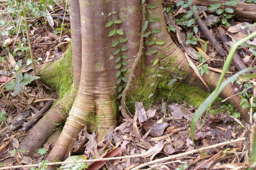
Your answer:
[[[72,150],[74,142],[78,138],[79,132],[85,127],[96,125],[99,129],[98,139],[105,135],[110,126],[116,121],[117,113],[117,88],[122,86],[126,81],[121,81],[117,85],[116,73],[122,68],[128,68],[128,71],[122,72],[119,78],[128,78],[129,69],[132,67],[134,57],[137,56],[140,39],[140,3],[137,0],[114,0],[114,1],[70,1],[70,12],[74,12],[80,9],[79,15],[71,15],[71,18],[77,17],[76,20],[71,21],[72,30],[72,42],[74,47],[79,46],[79,36],[81,35],[81,70],[74,68],[74,81],[79,82],[75,76],[79,75],[80,85],[78,94],[73,103],[73,106],[68,114],[65,126],[59,136],[55,146],[47,159],[53,161],[55,158],[64,160],[68,157],[69,152]],[[80,3],[80,4],[79,4]],[[159,4],[154,9],[148,9],[150,18],[160,18],[158,22],[149,22],[147,31],[154,29],[162,29],[159,33],[150,34],[148,38],[144,38],[145,43],[149,40],[162,40],[165,41],[164,45],[145,46],[144,57],[140,64],[137,66],[137,72],[135,80],[133,81],[133,88],[128,89],[133,97],[138,99],[144,99],[149,102],[151,99],[147,99],[151,92],[155,92],[154,96],[157,96],[156,88],[161,90],[169,90],[174,86],[167,87],[166,84],[171,80],[170,75],[176,75],[185,78],[184,83],[193,84],[206,89],[203,83],[197,78],[195,73],[187,75],[191,68],[188,67],[183,52],[174,44],[170,38],[162,13],[162,5],[160,0],[148,0],[146,4]],[[116,12],[108,16],[110,12]],[[121,20],[120,24],[114,24],[110,27],[105,27],[111,20]],[[72,20],[72,19],[71,19]],[[81,26],[81,34],[79,27]],[[74,28],[77,31],[74,31]],[[109,32],[112,30],[122,30],[123,35],[117,35],[109,37]],[[76,35],[73,35],[75,32]],[[77,36],[77,38],[75,38]],[[119,41],[120,38],[127,38],[125,43],[118,43],[116,47],[111,47],[114,41]],[[113,55],[116,49],[122,49],[122,47],[128,47],[126,51],[120,51],[117,55]],[[79,49],[77,49],[78,51]],[[157,53],[151,54],[150,50],[157,50]],[[76,51],[75,51],[76,52]],[[73,55],[74,55],[73,49]],[[127,55],[129,58],[121,58],[116,61],[118,56]],[[73,58],[74,67],[79,65],[79,54],[75,54],[77,58]],[[159,60],[159,63],[153,66],[155,60]],[[77,61],[74,61],[77,60]],[[128,62],[128,65],[122,65],[116,69],[116,66],[121,63]],[[159,69],[159,66],[163,66],[165,69]],[[161,73],[163,79],[153,79],[152,75],[155,73]],[[209,75],[204,74],[203,79],[207,82],[209,88],[213,90],[219,79],[219,74],[210,72]],[[156,82],[155,86],[150,87],[152,82]],[[125,87],[125,85],[123,85]],[[139,90],[140,93],[138,93]],[[169,94],[169,93],[168,93]],[[168,97],[166,94],[166,97]],[[234,91],[231,84],[227,86],[221,97],[226,98],[233,95]],[[197,94],[195,94],[197,95]],[[239,107],[239,98],[234,97],[231,99],[234,106],[241,111]]]

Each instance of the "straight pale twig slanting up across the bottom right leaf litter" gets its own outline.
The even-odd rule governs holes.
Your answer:
[[[177,155],[167,156],[167,157],[164,157],[164,158],[161,158],[161,159],[156,159],[156,160],[147,162],[145,164],[141,164],[141,165],[139,165],[139,166],[137,166],[135,168],[132,168],[131,170],[138,170],[138,169],[143,168],[145,166],[156,164],[156,163],[162,162],[164,160],[170,160],[170,159],[174,159],[174,158],[177,158],[177,157],[194,154],[194,153],[197,153],[198,151],[204,151],[204,150],[207,150],[207,149],[221,147],[221,146],[224,146],[224,145],[228,145],[230,143],[241,142],[241,141],[244,141],[244,140],[245,140],[245,138],[238,138],[238,139],[235,139],[235,140],[225,141],[225,142],[218,143],[218,144],[215,144],[215,145],[211,145],[211,146],[208,146],[208,147],[203,147],[203,148],[200,148],[198,150],[195,149],[195,150],[192,150],[192,151],[189,151],[189,152],[180,153],[180,154],[177,154]]]

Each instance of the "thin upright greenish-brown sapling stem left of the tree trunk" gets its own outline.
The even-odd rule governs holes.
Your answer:
[[[25,26],[26,26],[26,32],[27,32],[27,38],[28,38],[28,44],[29,44],[29,52],[30,52],[30,57],[31,57],[31,64],[32,64],[32,67],[33,67],[34,75],[36,76],[34,56],[33,56],[33,51],[32,51],[32,46],[31,46],[31,41],[30,41],[30,35],[29,35],[29,27],[28,27],[28,22],[27,22],[27,19],[26,19],[27,15],[26,15],[26,12],[25,12],[25,9],[24,9],[23,1],[20,1],[20,2],[21,2],[20,5],[22,6],[24,18],[25,18]],[[35,81],[36,81],[37,87],[39,89],[40,85],[38,83],[38,80],[36,79]]]

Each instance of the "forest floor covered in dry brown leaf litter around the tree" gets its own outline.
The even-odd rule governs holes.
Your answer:
[[[59,5],[54,4],[52,6],[53,10],[55,10],[55,14],[64,13],[64,10],[62,9],[64,6],[62,3],[59,3]],[[5,11],[6,7],[7,2],[3,2],[2,6],[0,7],[1,12]],[[170,10],[170,8],[166,7],[165,11],[166,9]],[[179,9],[175,8],[173,14],[177,11],[179,11]],[[182,11],[178,12],[176,14],[176,18],[182,17],[183,14],[184,13]],[[0,21],[6,20],[6,15],[7,14],[1,15]],[[204,13],[202,19],[204,19],[205,15],[209,16],[210,13]],[[69,15],[66,15],[65,18],[69,18]],[[214,21],[214,19],[212,19],[212,21]],[[56,18],[53,20],[53,22],[53,27],[50,27],[49,23],[45,22],[44,17],[38,17],[29,22],[29,32],[31,36],[30,40],[37,69],[42,70],[47,63],[61,58],[69,46],[71,39],[70,22]],[[64,27],[61,30],[62,22]],[[246,31],[240,31],[240,27],[241,24],[249,24],[249,22],[251,21],[232,18],[230,19],[231,27],[229,28],[225,25],[223,26],[223,24],[220,25],[219,22],[217,25],[211,25],[208,27],[208,29],[216,35],[218,33],[217,27],[222,27],[225,30],[225,33],[230,35],[229,39],[232,41],[236,38],[239,39],[239,37],[243,37],[244,34],[247,35]],[[254,28],[250,27],[249,31],[255,31]],[[185,29],[182,29],[182,32],[187,34]],[[31,72],[30,75],[33,74],[32,67],[29,67],[30,65],[27,66],[28,58],[26,55],[26,50],[25,52],[23,50],[23,53],[20,53],[22,48],[28,47],[27,41],[22,42],[24,31],[21,31],[19,34],[16,33],[17,30],[13,30],[12,33],[9,33],[9,35],[1,34],[0,36],[1,45],[3,43],[6,44],[9,38],[11,42],[8,43],[8,48],[10,51],[8,51],[7,48],[5,48],[5,52],[0,49],[0,55],[1,58],[3,58],[3,60],[0,62],[0,80],[2,83],[5,83],[7,66],[8,77],[11,77],[11,69],[15,67],[15,63],[18,65],[20,64],[20,66],[26,65],[25,70],[27,72]],[[173,37],[176,36],[176,34],[172,31],[170,34],[172,34]],[[15,37],[17,37],[17,39]],[[198,33],[198,38],[203,39],[205,42],[208,41],[205,35],[200,31]],[[254,43],[252,45],[256,45],[255,39],[251,41]],[[174,38],[174,40],[178,42],[177,39]],[[203,50],[205,43],[202,42],[203,41],[198,41],[196,45],[193,45],[193,47],[202,49],[201,55],[205,55],[205,58],[208,60],[207,63],[209,70],[213,68],[215,71],[216,69],[217,71],[221,71],[225,62],[225,57],[219,55],[209,42],[207,43],[207,50],[204,52]],[[60,44],[62,45],[60,46]],[[178,46],[182,48],[179,43]],[[13,51],[16,51],[16,53],[12,56]],[[228,54],[226,49],[224,49],[224,51],[226,54]],[[246,48],[240,48],[237,52],[242,58],[246,67],[255,66],[255,57],[252,55],[252,53],[247,51]],[[9,54],[8,62],[6,62],[4,59],[5,53]],[[195,63],[198,63],[198,61]],[[226,77],[229,77],[236,72],[234,63],[229,67],[229,71],[231,73],[227,74]],[[205,71],[205,73],[206,72],[207,71]],[[14,90],[6,90],[3,88],[5,96],[10,103],[15,106],[15,108],[10,107],[2,96],[0,100],[0,163],[2,163],[0,164],[0,168],[15,165],[38,164],[47,157],[50,149],[54,145],[53,143],[47,143],[46,145],[41,146],[41,150],[34,153],[33,157],[22,156],[22,152],[24,151],[17,151],[19,142],[25,135],[29,135],[29,131],[25,133],[22,131],[22,128],[36,115],[38,111],[40,111],[46,105],[48,101],[55,101],[59,97],[58,91],[48,87],[46,84],[43,84],[40,82],[40,79],[39,83],[41,83],[41,89],[38,89],[33,81],[27,86],[23,85],[17,95],[15,95]],[[234,83],[234,87],[236,87],[237,91],[241,91],[245,86],[243,86],[243,84]],[[153,160],[159,160],[159,163],[152,165],[151,169],[155,168],[161,170],[175,170],[177,168],[185,170],[195,169],[196,167],[201,169],[211,169],[213,166],[213,169],[232,169],[244,166],[244,161],[246,159],[246,142],[239,141],[237,143],[229,143],[223,146],[214,147],[215,144],[244,138],[246,135],[246,121],[240,117],[240,114],[237,113],[235,108],[230,104],[215,103],[215,105],[211,107],[210,114],[206,116],[205,122],[201,127],[205,114],[202,116],[202,118],[198,121],[196,130],[194,132],[195,144],[192,142],[190,136],[190,121],[197,109],[196,106],[189,105],[186,101],[181,103],[165,104],[155,101],[151,108],[144,108],[143,102],[140,103],[138,101],[135,103],[135,107],[140,108],[137,111],[138,121],[135,120],[134,124],[134,119],[123,119],[123,121],[118,122],[117,128],[110,128],[110,130],[107,132],[108,135],[106,135],[106,139],[103,141],[93,141],[96,136],[95,133],[87,134],[87,132],[84,132],[79,134],[80,136],[87,134],[87,139],[89,139],[89,141],[85,141],[85,144],[76,154],[85,155],[85,157],[87,157],[86,159],[89,159],[95,155],[96,158],[104,157],[111,152],[117,157],[136,153],[144,154],[144,156],[115,159],[106,163],[103,162],[102,164],[97,164],[97,162],[95,162],[91,163],[91,169],[105,169],[102,167],[105,166],[107,169],[130,170],[132,168],[136,169],[136,167],[139,165],[151,162]],[[146,118],[144,115],[146,115]],[[135,125],[135,129],[137,130],[134,130]],[[137,125],[139,126],[140,131],[138,130]],[[95,148],[93,149],[93,147],[90,148],[90,146],[94,146],[93,144],[95,144],[95,142],[97,143],[98,150]],[[105,151],[111,147],[117,147],[119,145],[121,146],[119,150],[109,150],[97,155],[97,153]],[[213,147],[203,151],[205,155],[198,152],[189,152],[194,151],[196,148],[210,146]],[[75,146],[75,148],[76,147],[78,146]],[[190,154],[182,155],[181,153]],[[170,155],[178,156],[170,159],[169,163],[163,164],[165,160],[162,160],[161,158],[165,158]],[[215,158],[214,155],[216,156]],[[72,160],[84,160],[84,157],[74,157]],[[204,162],[205,164],[201,165]],[[89,164],[86,166],[89,166]],[[22,167],[17,169],[30,168]]]

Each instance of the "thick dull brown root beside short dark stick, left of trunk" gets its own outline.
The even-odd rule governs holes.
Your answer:
[[[54,129],[63,122],[66,116],[67,114],[58,104],[39,120],[29,132],[30,135],[25,136],[20,142],[19,149],[29,151],[23,152],[23,156],[33,156],[36,150],[41,148],[45,141],[54,133]]]

